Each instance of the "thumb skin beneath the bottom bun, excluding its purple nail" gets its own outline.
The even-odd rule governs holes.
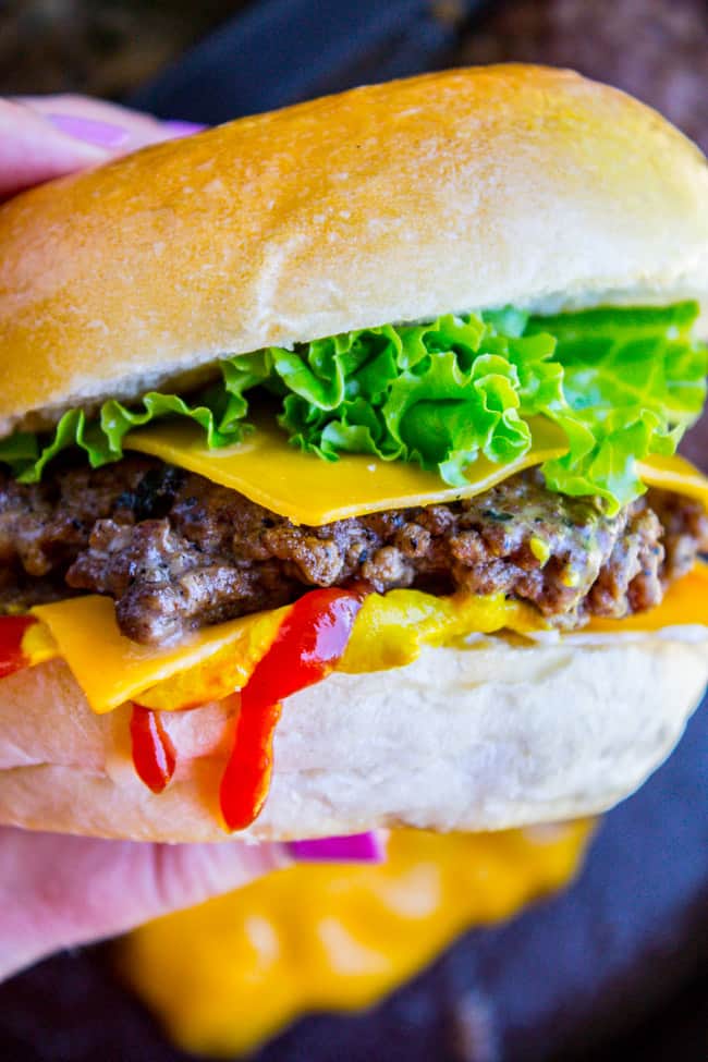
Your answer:
[[[0,980],[288,866],[284,845],[150,844],[0,829]]]

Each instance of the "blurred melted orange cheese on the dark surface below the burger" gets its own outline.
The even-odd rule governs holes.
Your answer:
[[[380,866],[293,867],[144,926],[120,966],[181,1048],[233,1057],[308,1011],[370,1006],[463,930],[561,888],[588,833],[396,832]]]

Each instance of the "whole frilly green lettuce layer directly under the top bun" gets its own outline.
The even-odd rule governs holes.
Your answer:
[[[672,453],[700,414],[708,352],[691,338],[696,315],[694,303],[554,317],[506,307],[269,347],[221,362],[221,381],[193,402],[150,392],[135,408],[106,402],[90,422],[72,410],[49,440],[0,442],[0,461],[34,483],[77,445],[97,467],[121,456],[126,432],[161,417],[188,417],[208,447],[230,445],[247,430],[255,389],[306,452],[415,461],[453,486],[479,454],[503,464],[526,453],[528,418],[550,417],[569,451],[542,466],[548,486],[615,512],[644,490],[636,461]]]

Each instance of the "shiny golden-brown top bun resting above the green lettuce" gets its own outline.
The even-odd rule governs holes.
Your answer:
[[[265,344],[707,291],[708,170],[658,114],[566,71],[425,75],[0,208],[0,432]]]

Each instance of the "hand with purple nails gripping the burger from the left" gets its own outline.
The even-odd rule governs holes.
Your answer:
[[[77,96],[0,100],[0,199],[195,132]],[[285,865],[284,845],[164,845],[0,828],[0,980]]]

